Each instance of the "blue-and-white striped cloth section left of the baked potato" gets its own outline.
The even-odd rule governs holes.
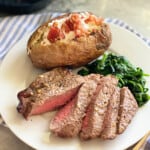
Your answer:
[[[57,16],[58,13],[21,15],[2,18],[0,22],[0,59],[26,33],[32,32],[44,21]]]

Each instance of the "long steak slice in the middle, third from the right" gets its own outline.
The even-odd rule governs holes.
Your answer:
[[[110,75],[100,79],[82,123],[81,139],[86,140],[100,136],[104,128],[103,122],[107,111],[107,105],[117,83],[118,80]]]

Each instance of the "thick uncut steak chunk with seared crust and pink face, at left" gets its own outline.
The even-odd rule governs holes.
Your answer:
[[[54,110],[70,101],[84,82],[82,76],[65,68],[39,75],[29,87],[18,93],[18,112],[25,118]]]

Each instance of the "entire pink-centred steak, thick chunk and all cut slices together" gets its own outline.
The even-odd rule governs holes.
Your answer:
[[[27,119],[59,108],[49,126],[55,135],[114,139],[125,131],[138,110],[131,91],[117,85],[113,75],[81,76],[55,68],[18,93],[17,110]]]

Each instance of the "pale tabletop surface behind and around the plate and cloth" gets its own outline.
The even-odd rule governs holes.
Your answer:
[[[41,12],[91,11],[96,15],[119,18],[150,39],[149,0],[52,0]],[[11,14],[2,14],[5,17]],[[13,145],[13,146],[12,146]],[[33,150],[3,126],[0,126],[0,150]]]

